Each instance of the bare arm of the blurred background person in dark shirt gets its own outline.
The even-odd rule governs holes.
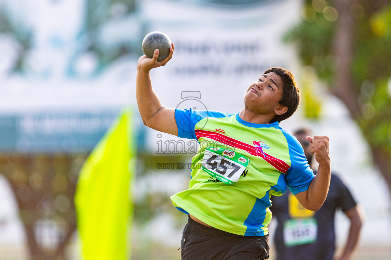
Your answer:
[[[356,205],[352,209],[346,210],[344,212],[346,216],[350,219],[350,229],[348,235],[348,241],[344,247],[341,257],[335,258],[335,260],[349,260],[352,256],[353,249],[357,245],[357,241],[360,237],[360,231],[362,222],[364,221],[364,213],[360,210],[360,207]]]

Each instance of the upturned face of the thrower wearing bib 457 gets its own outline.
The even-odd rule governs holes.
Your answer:
[[[244,94],[244,105],[259,114],[282,115],[288,108],[280,104],[282,79],[274,72],[262,75]]]

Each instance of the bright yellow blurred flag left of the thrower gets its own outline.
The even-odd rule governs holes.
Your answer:
[[[129,115],[129,111],[120,115],[80,171],[75,208],[85,260],[128,259],[127,227],[133,211],[129,184],[134,167]]]

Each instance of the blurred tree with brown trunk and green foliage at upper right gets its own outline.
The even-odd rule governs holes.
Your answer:
[[[285,40],[346,105],[391,191],[391,0],[303,2]]]

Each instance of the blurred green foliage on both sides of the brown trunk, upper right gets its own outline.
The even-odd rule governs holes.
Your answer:
[[[306,0],[301,13],[303,20],[285,37],[285,41],[297,44],[303,64],[311,66],[331,92],[335,87],[336,60],[339,58],[333,50],[338,18],[333,21],[335,17],[330,18],[325,12],[332,3]],[[390,157],[391,6],[370,13],[366,11],[370,1],[362,3],[350,7],[355,19],[351,76],[361,107],[355,120],[369,145]]]

